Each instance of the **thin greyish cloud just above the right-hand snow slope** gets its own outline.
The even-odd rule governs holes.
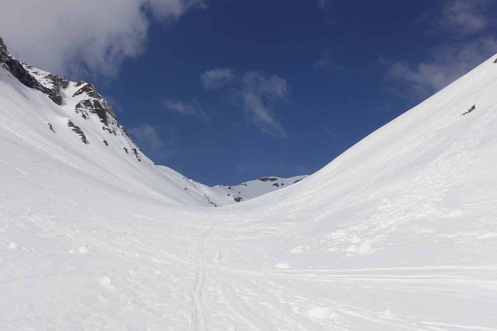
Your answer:
[[[414,97],[427,97],[471,71],[497,50],[495,37],[481,37],[433,49],[430,59],[415,65],[406,61],[382,61],[391,78],[407,84]]]

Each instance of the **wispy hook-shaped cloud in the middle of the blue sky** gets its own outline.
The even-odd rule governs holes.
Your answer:
[[[232,95],[233,103],[241,106],[247,118],[262,132],[287,136],[283,126],[275,119],[272,106],[286,101],[289,93],[286,80],[273,74],[248,71],[242,76],[228,68],[214,68],[200,76],[205,89],[223,89]]]

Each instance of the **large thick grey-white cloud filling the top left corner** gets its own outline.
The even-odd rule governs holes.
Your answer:
[[[202,0],[4,1],[0,31],[12,55],[40,69],[114,76],[126,58],[143,53],[149,13],[173,22],[202,5]]]

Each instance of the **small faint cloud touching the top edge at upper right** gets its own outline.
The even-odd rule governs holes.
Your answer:
[[[490,3],[489,0],[450,0],[433,22],[438,29],[464,37],[481,31],[494,19],[487,12]]]

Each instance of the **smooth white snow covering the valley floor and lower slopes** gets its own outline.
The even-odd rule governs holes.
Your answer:
[[[497,330],[494,60],[219,208],[0,71],[0,329]]]

